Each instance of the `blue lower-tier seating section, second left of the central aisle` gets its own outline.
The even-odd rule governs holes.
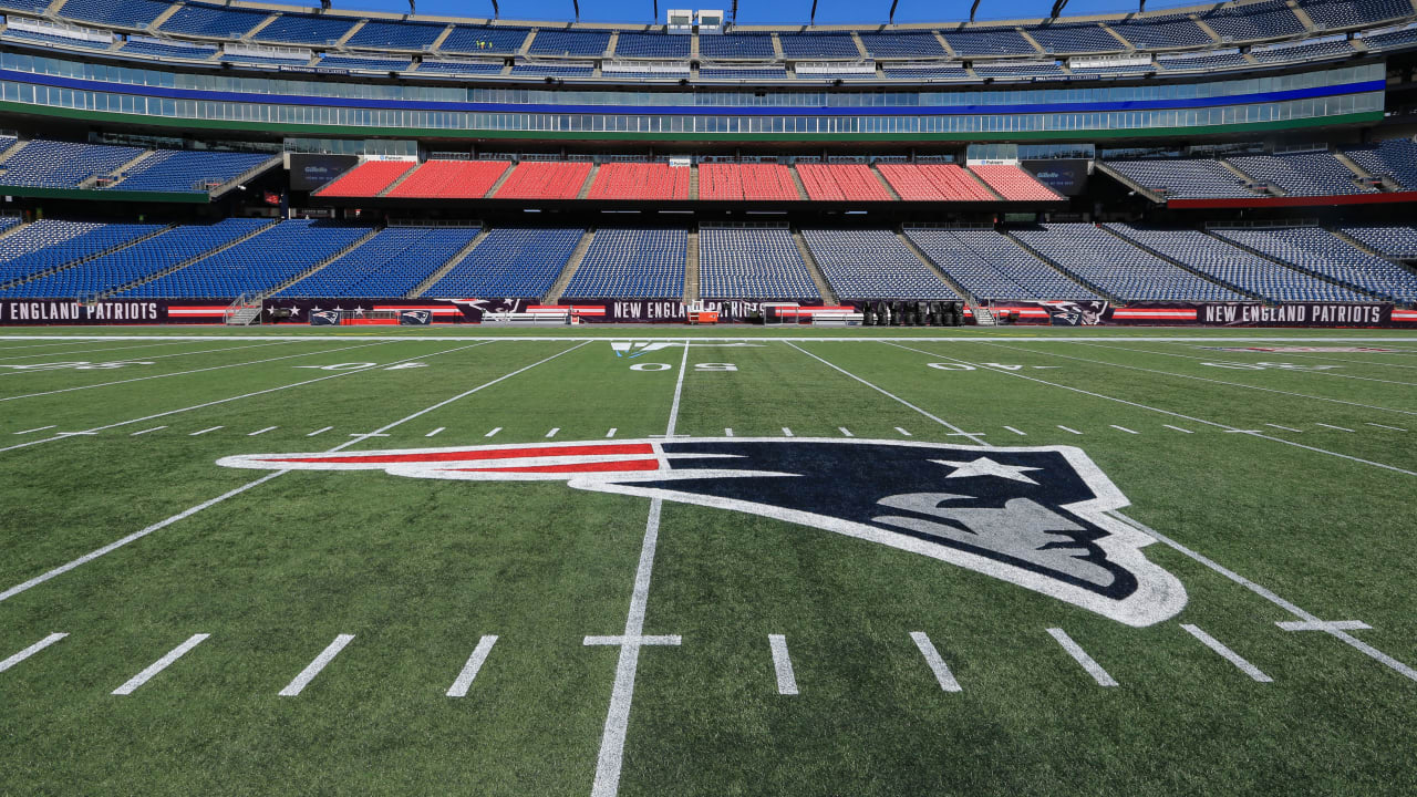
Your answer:
[[[551,291],[585,230],[497,228],[435,282],[425,296],[531,298]]]

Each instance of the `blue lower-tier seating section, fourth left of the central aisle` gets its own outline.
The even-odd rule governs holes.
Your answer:
[[[368,231],[368,227],[327,221],[282,221],[228,250],[115,296],[234,299],[242,294],[266,292],[333,257]]]

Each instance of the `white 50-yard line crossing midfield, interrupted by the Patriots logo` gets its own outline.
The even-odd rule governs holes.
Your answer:
[[[588,343],[588,340],[587,340]],[[673,438],[679,423],[679,400],[684,390],[684,370],[689,366],[689,346],[679,362],[679,376],[674,380],[674,400],[669,407],[669,425],[665,437]],[[635,566],[635,587],[631,591],[629,613],[625,615],[625,634],[621,641],[619,661],[615,664],[615,685],[611,688],[611,705],[605,712],[605,730],[601,733],[601,752],[595,759],[595,781],[591,797],[614,797],[619,791],[621,767],[625,763],[625,732],[629,728],[629,708],[635,699],[635,672],[639,669],[639,650],[649,644],[645,632],[645,607],[649,603],[649,577],[655,569],[655,549],[659,545],[659,515],[663,499],[649,501],[649,518],[645,522],[645,539],[639,549],[639,564]],[[663,644],[663,642],[660,642]]]

